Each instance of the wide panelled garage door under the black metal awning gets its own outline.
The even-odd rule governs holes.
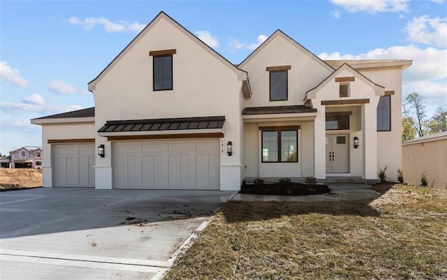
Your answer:
[[[115,189],[219,189],[219,140],[113,143]]]

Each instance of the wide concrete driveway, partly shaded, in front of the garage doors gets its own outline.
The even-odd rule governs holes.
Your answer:
[[[160,279],[233,192],[0,193],[0,279]]]

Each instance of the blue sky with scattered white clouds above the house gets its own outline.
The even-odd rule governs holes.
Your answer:
[[[161,10],[233,63],[276,29],[322,59],[413,59],[404,96],[447,105],[445,0],[1,0],[0,152],[42,145],[29,119],[94,106],[87,82]]]

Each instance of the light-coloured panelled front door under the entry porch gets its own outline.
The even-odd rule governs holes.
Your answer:
[[[326,135],[326,173],[349,172],[349,135]]]

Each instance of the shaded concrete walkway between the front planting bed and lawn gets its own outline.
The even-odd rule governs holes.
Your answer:
[[[373,200],[380,196],[380,193],[372,190],[369,184],[328,184],[330,193],[315,196],[263,196],[256,194],[236,193],[231,200],[240,201],[342,201],[342,200]]]

